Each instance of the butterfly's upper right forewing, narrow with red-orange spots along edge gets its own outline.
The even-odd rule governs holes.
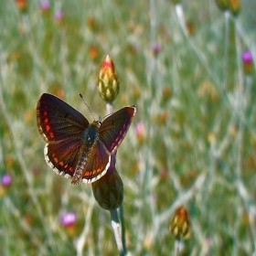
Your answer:
[[[112,113],[101,123],[99,129],[100,141],[105,145],[109,154],[112,155],[123,142],[123,138],[133,121],[135,113],[135,106],[125,107],[118,112]]]

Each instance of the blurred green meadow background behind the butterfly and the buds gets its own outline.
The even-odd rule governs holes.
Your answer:
[[[104,116],[107,54],[113,110],[137,106],[116,165],[129,255],[174,255],[179,206],[180,255],[256,255],[256,1],[178,2],[0,0],[0,255],[118,255],[110,213],[50,169],[36,123],[43,92]]]

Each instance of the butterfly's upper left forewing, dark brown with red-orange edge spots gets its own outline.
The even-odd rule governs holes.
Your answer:
[[[48,143],[78,137],[88,125],[80,112],[54,95],[44,93],[37,101],[37,127]]]

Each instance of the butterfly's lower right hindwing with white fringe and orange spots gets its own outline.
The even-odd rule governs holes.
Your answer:
[[[104,176],[110,167],[111,157],[101,141],[97,140],[93,144],[87,163],[84,166],[82,182],[90,184]]]

